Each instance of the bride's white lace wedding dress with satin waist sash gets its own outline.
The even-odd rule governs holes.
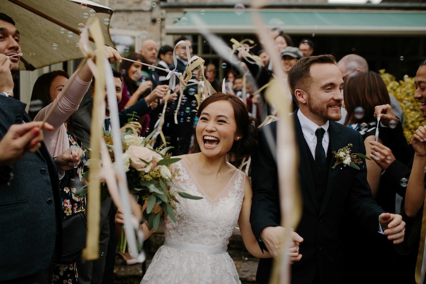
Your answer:
[[[236,170],[211,200],[183,160],[174,166],[179,168],[179,176],[173,183],[203,199],[176,194],[176,223],[165,217],[165,243],[155,253],[141,284],[241,284],[227,245],[241,210],[244,172]]]

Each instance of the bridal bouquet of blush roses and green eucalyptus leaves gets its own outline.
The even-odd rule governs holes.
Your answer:
[[[129,124],[131,125],[131,124]],[[172,147],[160,147],[154,149],[155,140],[150,138],[154,131],[147,137],[141,137],[134,128],[129,126],[122,132],[123,162],[125,164],[128,189],[131,194],[138,196],[139,200],[147,203],[143,212],[149,223],[149,229],[158,229],[161,214],[168,214],[175,221],[173,207],[176,200],[170,193],[169,187],[178,190],[177,194],[183,198],[201,199],[184,192],[183,189],[172,183],[172,178],[179,174],[178,169],[171,169],[171,164],[180,158],[171,158],[169,153]],[[114,161],[114,147],[111,134],[104,131],[104,139],[107,144],[111,161]]]

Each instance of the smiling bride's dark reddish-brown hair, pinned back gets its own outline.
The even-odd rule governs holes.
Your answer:
[[[233,154],[237,159],[248,157],[257,145],[256,138],[258,131],[258,121],[255,118],[249,116],[247,106],[240,100],[239,97],[221,92],[212,94],[200,104],[197,117],[200,117],[200,114],[208,105],[221,100],[231,103],[232,108],[234,109],[237,132],[242,136],[240,140],[234,141],[234,144],[232,144],[232,148],[228,154]],[[197,152],[200,152],[200,146],[198,145],[197,139],[194,138],[194,146],[190,153]]]

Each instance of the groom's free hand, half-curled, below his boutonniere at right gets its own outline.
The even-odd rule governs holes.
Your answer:
[[[382,213],[379,216],[379,223],[383,228],[384,235],[393,244],[402,243],[405,235],[405,222],[399,214]]]

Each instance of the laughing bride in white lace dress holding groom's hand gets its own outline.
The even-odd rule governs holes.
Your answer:
[[[247,250],[256,257],[271,257],[261,251],[250,226],[252,187],[244,172],[226,162],[227,154],[247,157],[256,146],[257,126],[235,95],[216,93],[198,110],[196,149],[179,156],[173,183],[200,200],[180,198],[176,222],[165,216],[165,242],[155,253],[141,284],[239,284],[235,264],[227,252],[234,227],[240,227]],[[170,191],[176,189],[170,188]],[[119,211],[116,222],[123,223]],[[143,225],[144,227],[146,224]],[[144,228],[147,232],[147,228]],[[149,236],[146,236],[146,238]],[[290,261],[301,255],[292,252]]]

